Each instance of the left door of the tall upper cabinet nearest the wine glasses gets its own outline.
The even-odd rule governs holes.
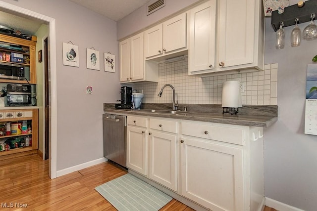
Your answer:
[[[190,10],[189,73],[214,69],[215,20],[216,0]]]

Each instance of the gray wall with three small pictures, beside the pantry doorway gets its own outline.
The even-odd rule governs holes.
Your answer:
[[[3,1],[56,20],[57,170],[104,157],[103,103],[120,97],[119,67],[115,74],[104,72],[102,60],[100,71],[87,69],[86,48],[118,59],[116,22],[68,0]],[[79,68],[62,64],[62,42],[69,41],[79,46]]]

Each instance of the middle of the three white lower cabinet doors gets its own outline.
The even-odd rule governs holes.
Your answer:
[[[149,141],[149,177],[176,191],[176,135],[151,131]]]

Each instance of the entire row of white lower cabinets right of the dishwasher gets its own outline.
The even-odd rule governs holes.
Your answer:
[[[127,122],[127,168],[212,211],[264,207],[262,127],[134,116]]]

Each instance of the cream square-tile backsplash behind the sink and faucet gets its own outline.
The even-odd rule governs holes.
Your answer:
[[[182,104],[221,104],[222,83],[225,81],[244,82],[241,93],[243,105],[277,105],[277,64],[265,65],[264,71],[239,73],[222,76],[188,75],[188,57],[172,63],[159,63],[159,82],[133,84],[133,89],[144,93],[144,103],[171,103],[172,89],[175,88],[178,103]]]

